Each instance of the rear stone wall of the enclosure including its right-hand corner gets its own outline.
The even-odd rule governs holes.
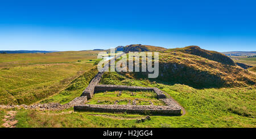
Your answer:
[[[129,91],[154,91],[158,98],[166,98],[166,95],[158,88],[146,88],[142,86],[127,85],[96,85],[94,93],[102,91],[129,90]]]

